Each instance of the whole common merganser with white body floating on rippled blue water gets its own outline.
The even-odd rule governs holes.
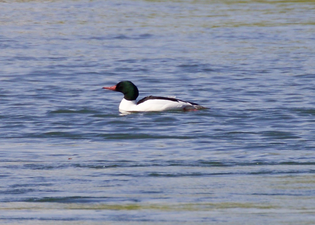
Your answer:
[[[147,96],[140,101],[136,101],[139,96],[138,88],[131,81],[121,81],[112,87],[103,87],[104,89],[118,91],[124,94],[120,102],[119,111],[125,112],[148,112],[164,110],[194,110],[206,109],[197,103],[182,101],[169,97]]]

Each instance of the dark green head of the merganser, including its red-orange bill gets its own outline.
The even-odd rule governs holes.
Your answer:
[[[118,91],[123,93],[123,98],[128,101],[134,101],[139,96],[138,88],[131,81],[121,81],[112,87],[104,87],[104,89],[109,89],[112,91]]]

